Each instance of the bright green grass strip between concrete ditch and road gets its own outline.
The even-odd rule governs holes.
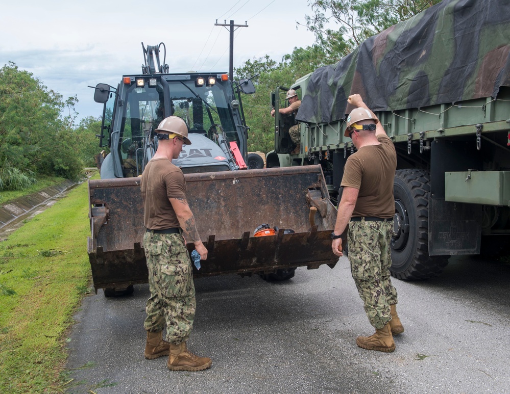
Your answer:
[[[0,392],[63,392],[66,331],[89,292],[87,183],[0,242]]]

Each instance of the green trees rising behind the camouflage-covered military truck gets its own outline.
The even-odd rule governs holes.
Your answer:
[[[248,150],[274,149],[274,119],[270,115],[270,93],[277,86],[289,87],[299,77],[334,64],[362,41],[406,20],[440,0],[309,0],[311,16],[306,28],[315,34],[316,43],[294,48],[276,62],[268,55],[248,60],[234,69],[234,79],[254,78],[256,93],[243,97],[246,121],[250,126]],[[299,23],[298,23],[299,24]]]

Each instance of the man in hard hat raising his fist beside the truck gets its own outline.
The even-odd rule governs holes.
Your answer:
[[[356,345],[368,350],[393,352],[393,335],[404,332],[397,315],[397,291],[390,279],[390,243],[395,200],[393,181],[397,154],[381,122],[359,94],[349,96],[355,108],[347,118],[345,137],[357,151],[344,167],[342,198],[338,205],[333,253],[342,256],[342,233],[347,225],[349,262],[370,324],[371,336],[358,336]]]

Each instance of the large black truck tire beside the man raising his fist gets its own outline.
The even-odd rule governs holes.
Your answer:
[[[430,173],[405,169],[395,172],[395,234],[391,274],[397,279],[420,280],[438,276],[449,256],[428,255],[428,199]]]

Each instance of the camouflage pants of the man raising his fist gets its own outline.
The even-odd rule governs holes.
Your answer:
[[[392,234],[393,221],[364,219],[350,222],[347,233],[352,277],[375,328],[383,328],[392,320],[390,305],[397,303],[397,291],[390,279]]]

